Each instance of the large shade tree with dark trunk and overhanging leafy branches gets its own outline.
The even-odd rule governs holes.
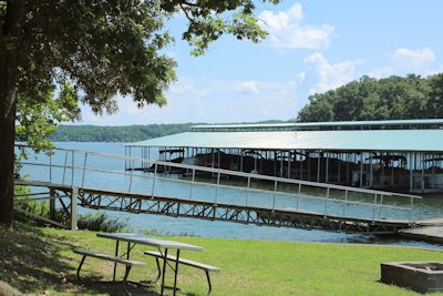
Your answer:
[[[184,13],[183,39],[198,55],[223,34],[260,41],[254,9],[253,0],[0,1],[0,224],[13,222],[18,102],[32,109],[62,85],[53,100],[70,95],[99,114],[117,111],[116,94],[163,105],[175,80],[165,20]]]

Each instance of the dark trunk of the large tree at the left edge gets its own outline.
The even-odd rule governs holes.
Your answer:
[[[23,3],[8,0],[0,35],[0,225],[13,223],[16,111]]]

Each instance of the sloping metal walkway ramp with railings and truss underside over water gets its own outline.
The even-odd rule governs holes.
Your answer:
[[[28,150],[27,146],[19,149]],[[76,227],[78,205],[278,227],[384,234],[413,225],[415,195],[54,149],[21,161],[32,198],[50,200]],[[152,172],[125,171],[144,162]],[[167,167],[167,170],[164,170]],[[177,174],[159,173],[164,171]],[[42,188],[47,191],[41,192]],[[24,196],[17,196],[20,203]],[[29,198],[29,197],[28,197]],[[48,220],[51,221],[51,220]],[[60,225],[59,225],[60,226]]]

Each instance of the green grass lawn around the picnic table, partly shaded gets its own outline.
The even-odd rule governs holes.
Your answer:
[[[166,237],[204,247],[204,252],[183,252],[183,257],[222,268],[214,273],[213,295],[416,295],[380,284],[380,263],[394,261],[440,261],[443,253],[377,245],[334,245],[297,242]],[[75,271],[80,255],[72,248],[114,253],[114,242],[97,238],[89,231],[37,228],[19,224],[14,231],[0,228],[0,279],[27,294],[50,295],[121,295],[119,285],[110,280],[113,264],[86,258],[78,282]],[[155,262],[143,255],[146,247],[136,246],[133,258],[147,263],[134,267],[131,278],[153,278]],[[121,278],[123,267],[120,268]],[[172,273],[166,284],[172,285]],[[205,295],[205,274],[181,266],[178,295]],[[151,288],[131,286],[134,295],[157,295],[158,284]],[[172,290],[167,290],[172,293]],[[443,295],[443,294],[433,294]]]

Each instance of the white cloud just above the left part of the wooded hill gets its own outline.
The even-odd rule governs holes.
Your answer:
[[[317,75],[316,85],[309,90],[309,94],[337,89],[354,80],[356,68],[362,62],[361,60],[356,60],[331,64],[319,52],[312,53],[303,61],[312,65],[312,71]]]

